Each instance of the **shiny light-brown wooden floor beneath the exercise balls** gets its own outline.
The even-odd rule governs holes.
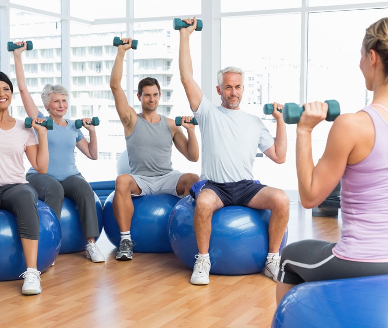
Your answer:
[[[336,241],[340,215],[312,217],[290,204],[288,243],[316,238]],[[85,253],[61,254],[42,273],[42,294],[21,294],[23,280],[0,282],[1,327],[269,327],[276,310],[276,283],[263,273],[210,275],[210,284],[190,284],[191,269],[173,253],[134,253],[115,260],[104,234],[98,240],[105,263]]]

